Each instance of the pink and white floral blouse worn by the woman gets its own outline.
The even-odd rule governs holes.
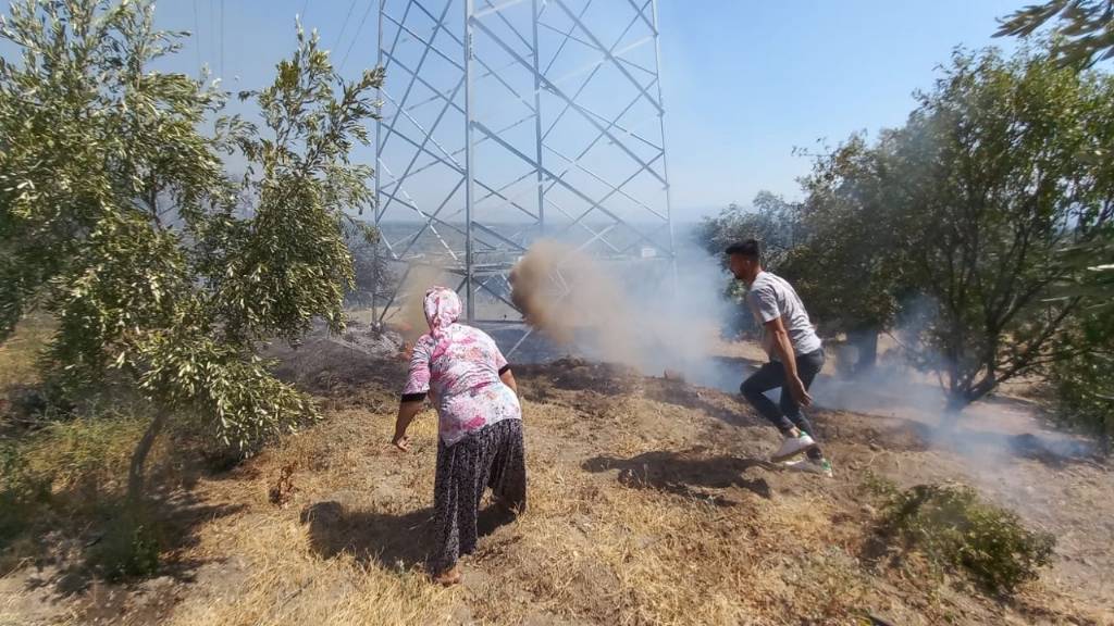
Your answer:
[[[438,329],[438,338],[426,334],[414,344],[402,397],[429,393],[441,441],[452,446],[471,431],[522,418],[518,397],[499,379],[506,368],[507,359],[487,333],[451,323]]]

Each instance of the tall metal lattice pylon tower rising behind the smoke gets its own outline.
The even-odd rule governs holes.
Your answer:
[[[459,276],[476,322],[514,307],[508,273],[539,237],[672,267],[656,8],[380,0],[374,221],[403,282]],[[398,294],[378,300],[382,321]]]

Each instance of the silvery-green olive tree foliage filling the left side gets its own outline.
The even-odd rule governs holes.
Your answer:
[[[25,0],[0,36],[22,51],[0,61],[0,336],[41,307],[61,389],[123,381],[242,448],[312,419],[254,348],[342,324],[344,209],[371,200],[349,153],[382,72],[344,81],[299,29],[274,84],[241,94],[261,128],[214,119],[216,82],[150,69],[183,36],[150,2]]]

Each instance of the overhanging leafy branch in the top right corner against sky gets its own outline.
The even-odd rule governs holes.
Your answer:
[[[995,37],[1029,37],[1055,21],[1052,52],[1062,63],[1092,66],[1114,58],[1114,0],[1048,0],[1000,20]]]

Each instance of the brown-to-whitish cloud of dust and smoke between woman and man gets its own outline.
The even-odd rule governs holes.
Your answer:
[[[723,276],[706,254],[627,265],[539,241],[510,275],[511,299],[550,341],[645,374],[696,379],[709,366],[725,303]]]

